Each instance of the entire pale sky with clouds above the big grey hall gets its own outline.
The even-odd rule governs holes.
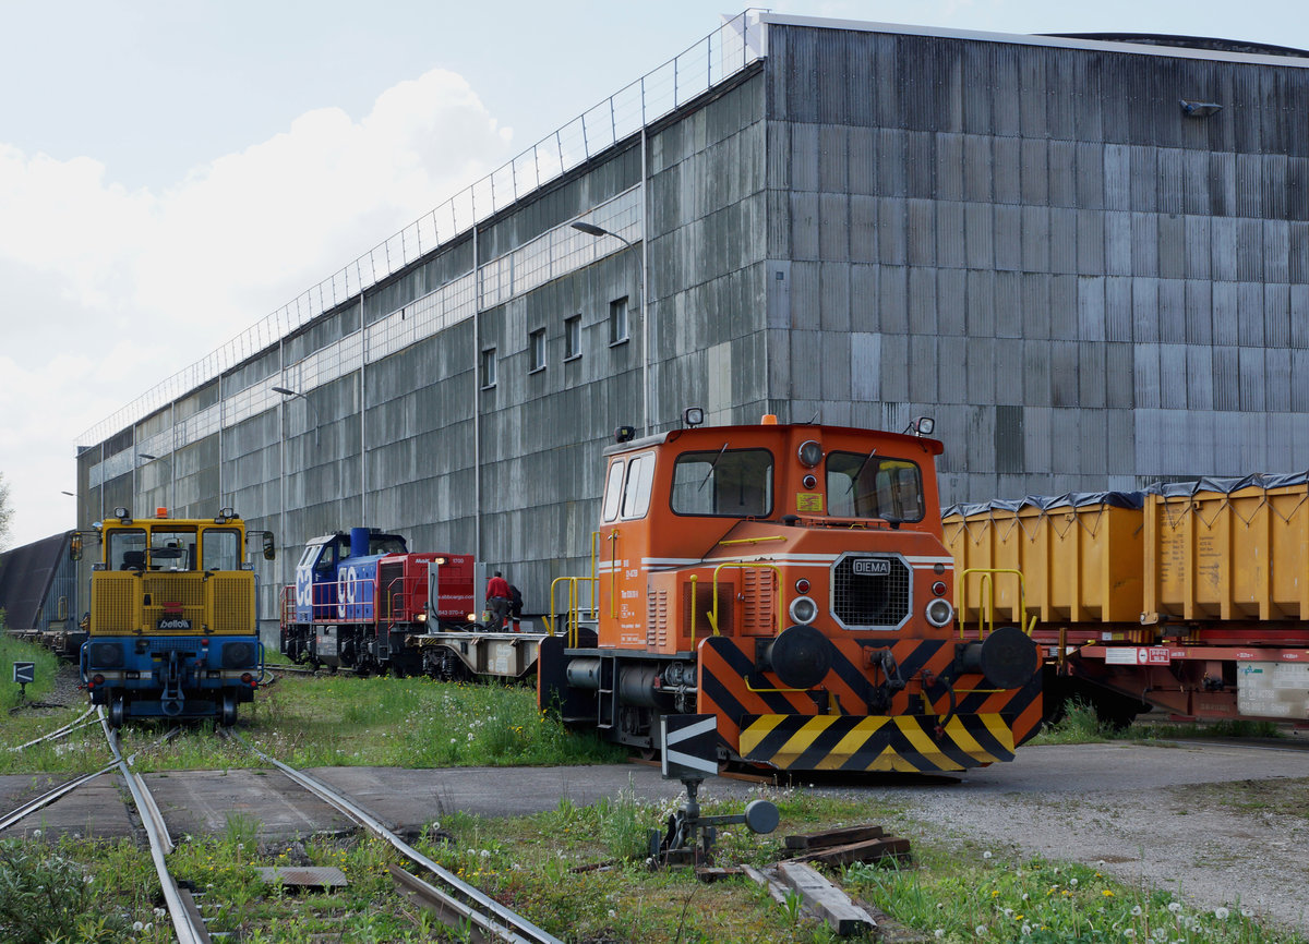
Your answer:
[[[60,492],[75,490],[80,433],[708,35],[720,13],[742,9],[704,0],[0,0],[9,547],[76,524]],[[1306,8],[1289,0],[796,0],[771,9],[1309,48]]]

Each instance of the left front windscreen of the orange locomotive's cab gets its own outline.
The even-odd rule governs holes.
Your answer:
[[[766,448],[683,452],[673,469],[673,513],[767,518],[772,511],[772,452]]]

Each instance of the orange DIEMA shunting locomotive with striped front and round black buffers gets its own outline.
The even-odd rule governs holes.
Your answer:
[[[542,707],[639,749],[661,715],[713,714],[724,760],[789,770],[1011,760],[1041,722],[1035,646],[956,626],[941,443],[914,429],[764,417],[610,447],[596,638],[573,615],[542,641]]]

